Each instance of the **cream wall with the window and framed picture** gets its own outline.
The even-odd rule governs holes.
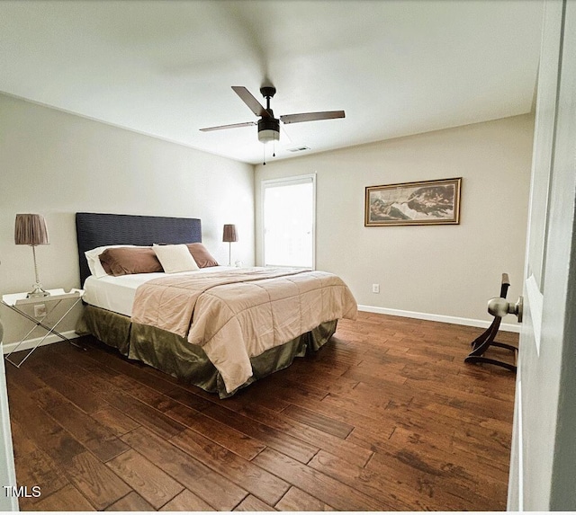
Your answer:
[[[257,262],[260,182],[316,172],[316,267],[346,280],[359,305],[491,321],[501,273],[510,300],[522,290],[533,129],[525,115],[258,165]],[[463,177],[460,225],[364,226],[366,186],[451,177]]]

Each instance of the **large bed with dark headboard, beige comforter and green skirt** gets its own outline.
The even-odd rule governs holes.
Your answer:
[[[338,318],[356,317],[354,297],[334,274],[225,267],[207,252],[199,259],[197,218],[76,213],[76,237],[85,289],[76,333],[220,398],[318,351]],[[161,259],[182,247],[201,268],[173,270],[164,256],[159,270],[147,261],[142,272],[130,262],[114,275],[115,262],[104,259],[121,253]]]

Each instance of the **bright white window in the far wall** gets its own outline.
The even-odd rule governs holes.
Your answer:
[[[316,175],[262,182],[264,266],[314,268]]]

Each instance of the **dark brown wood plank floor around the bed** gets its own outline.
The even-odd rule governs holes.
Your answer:
[[[505,510],[515,376],[464,364],[480,333],[360,313],[226,400],[91,338],[41,347],[6,364],[18,484],[41,489],[21,510]]]

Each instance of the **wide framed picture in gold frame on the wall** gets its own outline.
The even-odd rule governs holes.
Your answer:
[[[460,223],[462,177],[366,186],[365,226]]]

